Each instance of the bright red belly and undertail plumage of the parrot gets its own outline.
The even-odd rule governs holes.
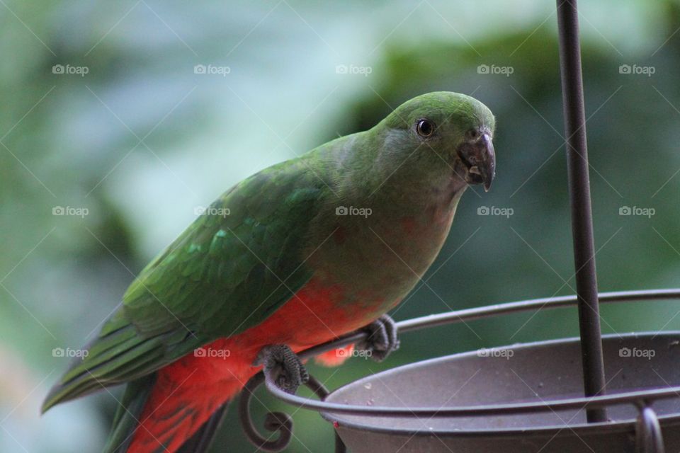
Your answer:
[[[178,449],[259,372],[253,362],[264,346],[285,344],[299,352],[361,328],[382,314],[379,299],[367,299],[371,306],[361,309],[343,299],[338,285],[312,279],[258,326],[205,345],[203,357],[190,353],[159,369],[129,452],[154,452],[160,444],[169,452]],[[341,361],[339,357],[337,363]]]

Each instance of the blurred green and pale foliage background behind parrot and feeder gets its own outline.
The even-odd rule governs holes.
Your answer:
[[[581,24],[599,288],[678,286],[680,2],[584,1]],[[395,318],[572,294],[556,28],[553,1],[0,0],[0,451],[101,449],[120,389],[38,414],[60,350],[86,343],[198,207],[427,91],[489,105],[498,174],[463,197]],[[680,328],[679,309],[604,306],[603,330]],[[310,368],[335,388],[576,335],[574,310],[540,311],[406,333],[380,365]],[[258,416],[283,408],[259,400]],[[330,451],[327,423],[294,418],[288,451]],[[254,451],[233,413],[213,451],[225,443]]]

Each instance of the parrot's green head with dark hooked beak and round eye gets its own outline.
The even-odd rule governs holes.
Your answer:
[[[386,134],[387,153],[399,164],[454,190],[468,184],[491,188],[496,175],[494,126],[486,105],[449,91],[413,98],[378,125]]]

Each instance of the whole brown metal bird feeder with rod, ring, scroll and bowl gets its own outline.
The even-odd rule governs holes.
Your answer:
[[[265,428],[278,434],[262,437],[254,428],[249,401],[264,382],[277,398],[319,411],[333,423],[336,452],[347,447],[353,453],[680,450],[680,332],[601,337],[599,302],[680,299],[680,289],[597,292],[577,1],[557,0],[557,19],[577,295],[451,311],[397,326],[405,333],[577,305],[580,338],[494,348],[487,357],[477,351],[438,357],[373,374],[331,393],[312,377],[307,386],[320,401],[288,394],[260,373],[246,385],[239,403],[244,431],[257,447],[278,452],[293,436],[293,422],[283,413],[266,418]],[[363,336],[352,333],[300,356],[312,357]],[[631,355],[635,350],[656,353]],[[509,367],[509,355],[523,377]]]

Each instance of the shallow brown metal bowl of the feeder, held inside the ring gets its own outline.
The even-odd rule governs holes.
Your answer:
[[[603,340],[608,394],[680,386],[680,332],[610,335]],[[343,386],[325,401],[413,409],[540,406],[582,396],[580,343],[569,338],[397,367]],[[322,415],[353,453],[623,453],[635,451],[640,410],[633,402],[608,408],[608,423],[586,423],[583,408],[432,418]],[[656,401],[653,408],[667,451],[680,451],[680,399]]]

